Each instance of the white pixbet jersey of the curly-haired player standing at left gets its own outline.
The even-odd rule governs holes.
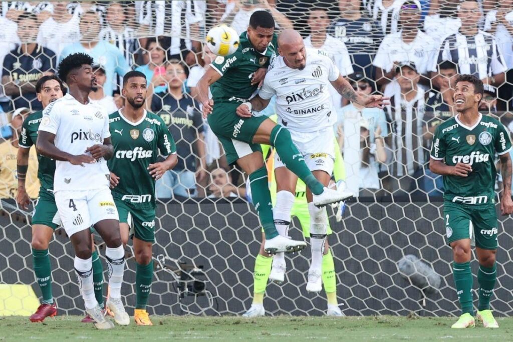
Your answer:
[[[40,131],[55,134],[55,147],[63,152],[80,155],[110,137],[109,116],[100,105],[83,105],[69,93],[50,103],[43,110]],[[90,155],[90,154],[89,154]],[[95,190],[109,187],[107,161],[100,158],[93,164],[72,165],[56,160],[53,190]]]

